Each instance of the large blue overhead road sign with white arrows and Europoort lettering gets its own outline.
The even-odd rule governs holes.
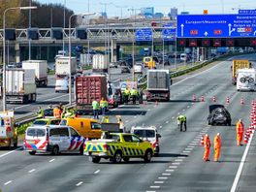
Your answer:
[[[256,37],[256,15],[177,16],[178,38]]]

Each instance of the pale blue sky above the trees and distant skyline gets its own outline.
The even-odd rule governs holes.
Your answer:
[[[256,9],[256,0],[37,0],[40,3],[65,4],[76,14],[100,13],[107,10],[108,16],[127,17],[131,15],[128,9],[154,7],[154,12],[168,14],[171,8],[176,7],[178,13],[187,11],[190,14],[203,14],[208,10],[208,14],[237,14],[239,9]],[[88,6],[89,5],[89,6]]]

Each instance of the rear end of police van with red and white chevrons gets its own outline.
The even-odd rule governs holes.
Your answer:
[[[47,149],[47,129],[40,127],[28,127],[25,133],[24,149]]]

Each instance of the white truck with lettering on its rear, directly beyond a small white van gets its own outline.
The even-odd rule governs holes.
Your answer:
[[[60,56],[55,59],[55,75],[56,76],[69,76],[75,75],[77,72],[77,58],[68,56]]]

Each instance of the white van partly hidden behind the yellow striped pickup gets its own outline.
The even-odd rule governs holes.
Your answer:
[[[134,126],[131,128],[131,133],[139,136],[143,141],[148,141],[154,148],[154,155],[160,152],[159,138],[161,135],[157,133],[155,126]]]

